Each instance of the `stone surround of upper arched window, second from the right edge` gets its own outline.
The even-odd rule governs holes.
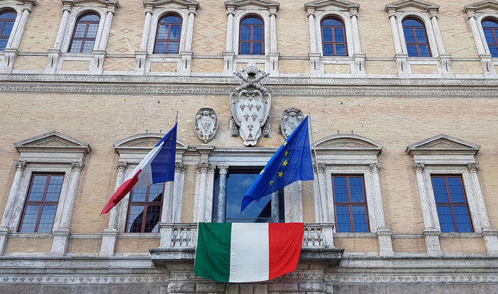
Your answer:
[[[408,10],[405,8],[408,7]],[[411,9],[415,7],[415,9]],[[443,37],[438,24],[439,5],[421,0],[401,0],[386,4],[393,33],[393,42],[396,54],[398,77],[455,77],[451,69],[451,55],[446,53]],[[425,33],[430,45],[431,57],[408,57],[405,36],[403,33],[403,20],[417,18],[425,26]],[[413,74],[412,65],[435,65],[437,74]]]

